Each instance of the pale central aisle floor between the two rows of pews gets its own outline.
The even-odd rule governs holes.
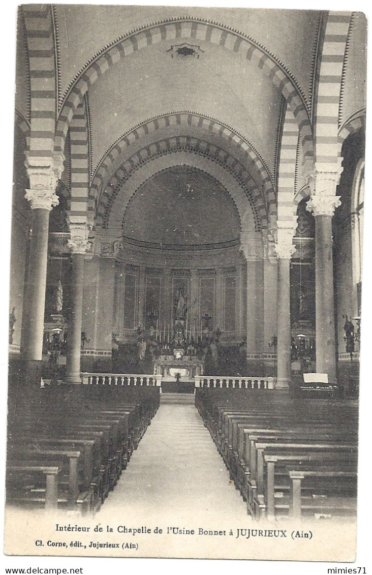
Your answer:
[[[197,517],[213,523],[249,520],[197,409],[187,404],[160,404],[97,519],[106,515],[122,516],[126,524],[141,517],[183,524]]]

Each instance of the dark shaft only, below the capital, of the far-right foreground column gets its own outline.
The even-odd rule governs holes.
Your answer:
[[[315,216],[316,370],[336,381],[332,216]]]

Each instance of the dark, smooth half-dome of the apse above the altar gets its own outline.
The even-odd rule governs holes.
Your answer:
[[[167,168],[144,182],[123,220],[124,237],[154,246],[223,246],[237,241],[239,232],[239,214],[228,191],[188,166]]]

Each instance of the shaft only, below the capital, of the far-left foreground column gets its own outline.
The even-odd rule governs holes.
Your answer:
[[[41,361],[43,353],[49,211],[41,208],[32,210],[32,236],[22,333],[22,355],[26,362]]]

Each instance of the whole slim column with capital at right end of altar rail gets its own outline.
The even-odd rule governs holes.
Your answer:
[[[297,218],[296,218],[297,219]],[[290,258],[296,247],[292,239],[296,223],[292,228],[281,227],[278,221],[278,236],[275,252],[278,256],[278,308],[277,308],[277,385],[276,389],[288,389],[292,377],[291,331],[290,331]]]

